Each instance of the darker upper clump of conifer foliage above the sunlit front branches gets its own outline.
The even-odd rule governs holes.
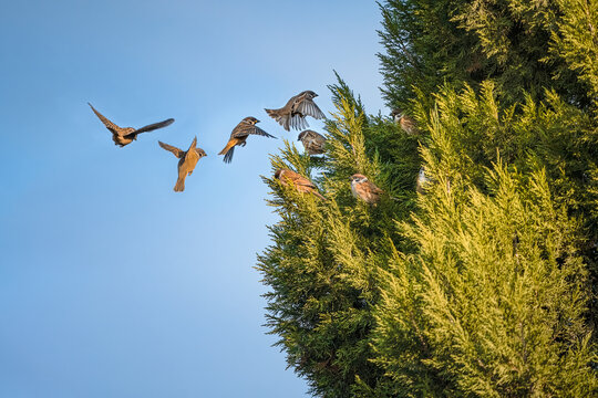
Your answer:
[[[391,106],[409,107],[414,87],[477,90],[488,78],[508,104],[524,93],[542,98],[545,88],[579,106],[590,102],[585,82],[597,76],[596,1],[389,0],[381,11],[386,52],[379,56]],[[576,70],[588,67],[579,81]]]

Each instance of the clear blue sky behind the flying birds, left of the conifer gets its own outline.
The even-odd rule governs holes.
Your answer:
[[[264,112],[338,71],[383,108],[373,0],[0,0],[0,397],[303,397],[252,268]],[[121,126],[174,117],[118,148]],[[217,153],[245,116],[279,139]],[[310,119],[315,129],[321,122]],[[177,159],[208,156],[175,193]],[[299,144],[300,145],[300,144]]]

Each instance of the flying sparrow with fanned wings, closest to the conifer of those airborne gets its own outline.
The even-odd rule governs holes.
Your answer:
[[[323,118],[324,114],[313,102],[318,94],[312,91],[305,91],[291,97],[287,105],[280,109],[265,109],[276,122],[287,132],[290,127],[302,129],[309,127],[306,117]]]

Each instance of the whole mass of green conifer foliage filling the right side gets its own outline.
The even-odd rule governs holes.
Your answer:
[[[383,95],[419,133],[337,74],[326,155],[271,157],[327,200],[264,178],[270,333],[317,396],[597,396],[596,0],[380,7]]]

